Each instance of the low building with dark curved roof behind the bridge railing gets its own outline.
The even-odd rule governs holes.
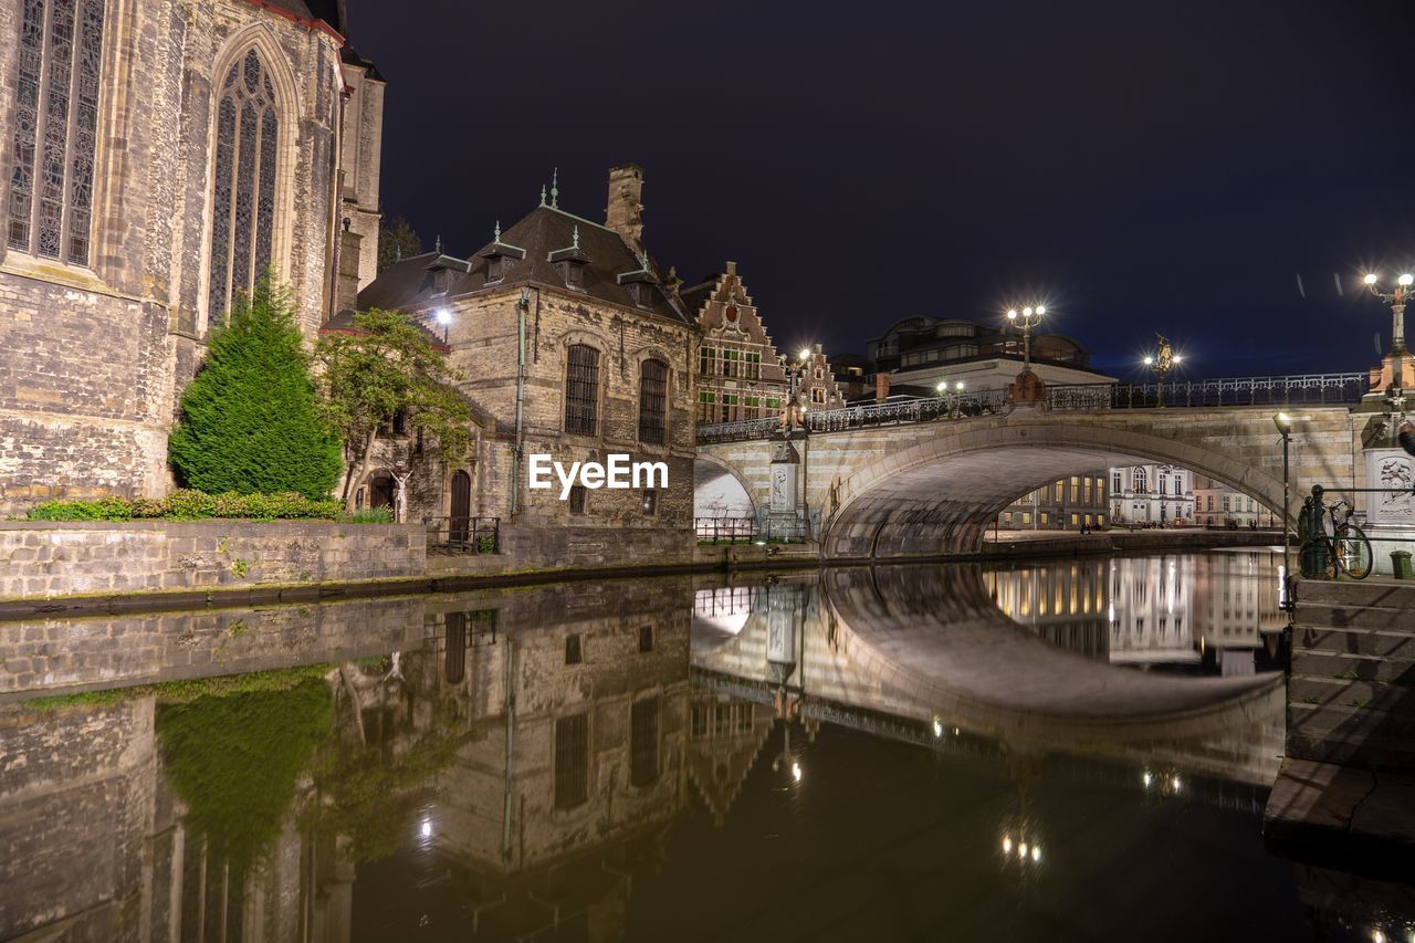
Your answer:
[[[972,391],[1005,389],[1022,371],[1023,341],[1015,330],[914,316],[869,341],[869,360],[876,372],[890,375],[894,392],[930,392],[945,381]],[[1091,370],[1090,360],[1063,334],[1032,337],[1032,370],[1049,385],[1116,382]]]

